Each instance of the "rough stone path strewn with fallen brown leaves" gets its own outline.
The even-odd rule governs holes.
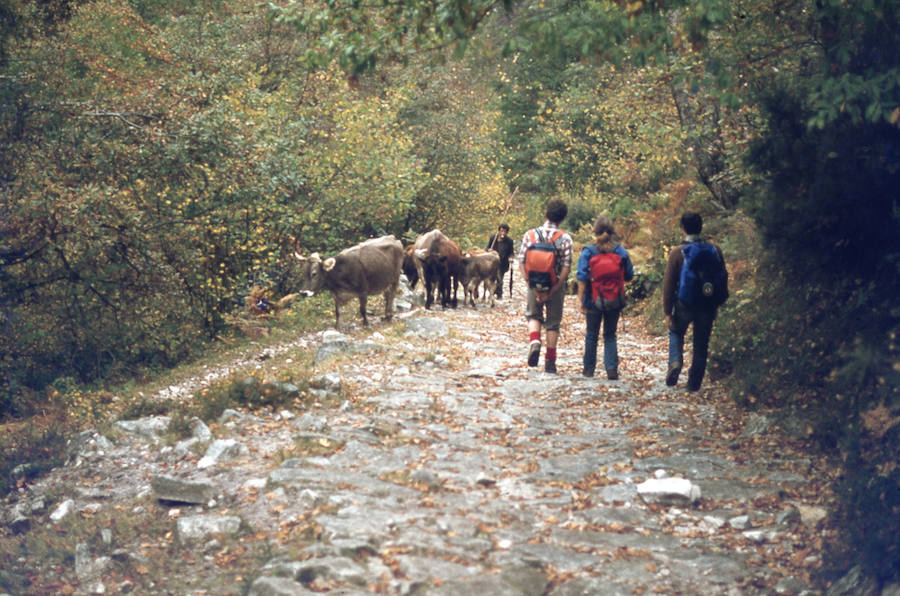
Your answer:
[[[816,594],[825,477],[714,384],[663,383],[620,329],[621,380],[525,366],[521,296],[307,338],[317,401],[87,433],[6,506],[27,593]],[[299,349],[299,348],[297,348]]]

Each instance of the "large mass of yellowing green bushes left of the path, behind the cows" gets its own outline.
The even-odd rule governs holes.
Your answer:
[[[302,48],[259,9],[165,8],[79,6],[2,79],[4,413],[57,376],[175,364],[281,277],[292,237],[397,232],[426,184],[403,90],[286,80]]]

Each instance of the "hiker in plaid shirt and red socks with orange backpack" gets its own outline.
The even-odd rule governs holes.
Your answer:
[[[525,318],[528,320],[528,366],[537,366],[541,356],[541,328],[547,330],[544,371],[556,372],[556,346],[566,298],[566,280],[572,269],[572,237],[559,225],[569,208],[551,199],[544,210],[546,220],[525,232],[519,249],[519,270],[528,284]],[[545,315],[546,313],[546,315]]]

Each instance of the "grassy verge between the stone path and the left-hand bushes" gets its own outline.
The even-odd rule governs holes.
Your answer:
[[[181,434],[194,417],[212,421],[228,408],[304,407],[309,395],[307,379],[312,355],[298,349],[273,358],[268,368],[277,368],[277,375],[272,376],[278,378],[274,380],[263,379],[255,370],[258,361],[254,356],[327,327],[333,316],[333,301],[328,295],[298,300],[279,317],[259,317],[259,323],[266,328],[261,336],[250,337],[233,325],[189,361],[172,369],[146,369],[131,378],[119,379],[116,385],[80,385],[66,377],[57,379],[40,394],[23,391],[18,399],[24,404],[22,410],[30,415],[0,422],[0,496],[64,463],[66,442],[78,432],[88,428],[108,430],[115,420],[168,415],[172,417],[171,431]],[[291,364],[285,362],[288,358]],[[254,370],[235,373],[198,391],[184,403],[154,397],[164,388],[202,378],[210,370],[241,360],[252,363],[248,368]]]

